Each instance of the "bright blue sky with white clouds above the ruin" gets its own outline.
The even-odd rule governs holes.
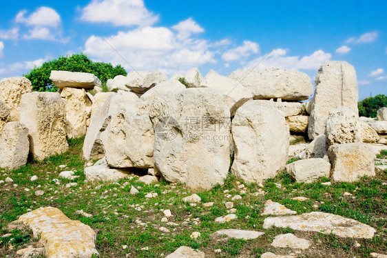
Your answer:
[[[387,94],[387,1],[367,2],[2,1],[0,79],[79,52],[128,72],[278,67],[313,81],[322,62],[344,60],[364,99]]]

